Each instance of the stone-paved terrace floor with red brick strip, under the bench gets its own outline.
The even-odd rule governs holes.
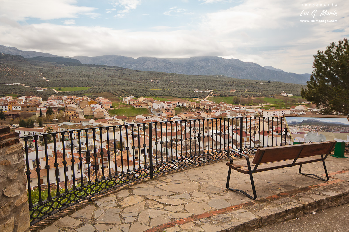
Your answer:
[[[109,191],[37,223],[31,231],[247,231],[349,201],[349,159],[328,156],[330,181],[326,183],[298,174],[299,166],[254,174],[256,200],[225,189],[226,162],[182,169]],[[320,162],[304,165],[302,170],[324,173]],[[250,190],[249,176],[232,171],[231,187]]]

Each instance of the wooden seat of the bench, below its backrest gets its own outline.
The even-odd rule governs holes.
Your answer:
[[[305,164],[305,163],[317,162],[317,161],[321,161],[321,157],[300,158],[300,159],[297,159],[294,166]],[[284,161],[269,162],[269,163],[260,163],[258,165],[257,170],[255,170],[253,173],[289,167],[290,165],[292,165],[292,162],[293,162],[293,159],[284,160]],[[240,173],[249,174],[246,161],[244,161],[244,163],[242,163],[242,162],[236,162],[236,163],[232,163],[232,164],[227,163],[227,165],[229,167],[231,167],[233,170],[237,170]],[[253,168],[254,168],[254,165],[251,165],[252,171],[253,171]]]

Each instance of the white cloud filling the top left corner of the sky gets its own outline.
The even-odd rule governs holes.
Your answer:
[[[0,0],[0,16],[15,21],[29,18],[50,20],[76,18],[80,14],[90,14],[96,9],[76,6],[76,2],[76,0]]]

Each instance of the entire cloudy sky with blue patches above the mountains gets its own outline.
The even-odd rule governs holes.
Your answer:
[[[1,45],[70,57],[209,55],[310,73],[317,50],[349,35],[347,0],[0,0],[0,6]]]

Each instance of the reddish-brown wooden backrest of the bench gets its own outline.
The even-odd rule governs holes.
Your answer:
[[[333,140],[296,145],[261,147],[257,149],[252,163],[268,163],[296,159],[297,157],[304,158],[314,155],[328,154],[332,151],[335,143],[336,141]]]

